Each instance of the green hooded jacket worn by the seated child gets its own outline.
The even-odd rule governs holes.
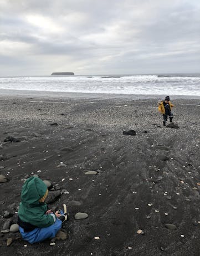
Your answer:
[[[30,177],[25,181],[18,211],[18,216],[23,222],[39,228],[49,227],[55,222],[54,214],[45,214],[47,204],[39,202],[46,191],[47,186],[40,178]]]

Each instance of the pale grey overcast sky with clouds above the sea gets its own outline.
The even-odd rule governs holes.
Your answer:
[[[200,72],[199,0],[0,0],[0,76]]]

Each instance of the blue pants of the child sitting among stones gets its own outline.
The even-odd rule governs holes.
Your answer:
[[[63,212],[61,212],[63,214]],[[46,228],[35,228],[33,231],[24,232],[24,229],[19,227],[19,232],[22,238],[30,244],[39,243],[47,238],[53,238],[61,228],[62,222],[57,219],[54,224]]]

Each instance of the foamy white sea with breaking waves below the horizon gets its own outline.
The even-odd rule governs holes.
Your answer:
[[[200,96],[200,73],[0,77],[0,94],[1,89],[93,94]]]

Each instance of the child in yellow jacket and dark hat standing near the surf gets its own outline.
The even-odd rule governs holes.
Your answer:
[[[171,112],[172,107],[174,107],[174,105],[170,101],[170,96],[166,96],[165,100],[158,103],[158,111],[162,113],[164,126],[166,125],[167,116],[170,116],[170,122],[172,122],[172,119],[173,119],[173,114]]]

